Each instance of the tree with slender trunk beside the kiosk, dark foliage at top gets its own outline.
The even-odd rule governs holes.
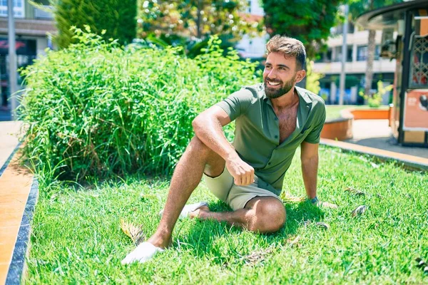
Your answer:
[[[402,0],[350,0],[350,19],[355,21],[358,16],[365,12],[400,2],[402,2]],[[370,95],[370,89],[372,89],[373,62],[374,53],[376,51],[375,37],[376,31],[369,30],[369,40],[367,44],[367,69],[364,88],[365,95]]]

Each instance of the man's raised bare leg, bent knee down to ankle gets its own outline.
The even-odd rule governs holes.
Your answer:
[[[180,212],[193,190],[198,187],[204,170],[215,177],[223,172],[224,167],[225,160],[220,155],[210,150],[197,137],[193,138],[175,167],[161,222],[148,242],[156,247],[168,247]]]

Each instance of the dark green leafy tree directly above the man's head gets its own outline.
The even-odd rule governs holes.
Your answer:
[[[271,35],[297,38],[305,45],[308,58],[314,58],[330,28],[338,23],[342,0],[263,0],[265,26]]]

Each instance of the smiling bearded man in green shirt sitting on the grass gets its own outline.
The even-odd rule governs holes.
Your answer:
[[[276,232],[286,218],[278,195],[299,145],[306,194],[312,203],[318,202],[324,101],[295,87],[306,75],[305,47],[300,41],[274,36],[266,48],[263,84],[233,93],[193,120],[195,137],[175,168],[158,229],[123,264],[146,261],[168,247],[179,216],[216,219],[253,232]],[[222,127],[233,120],[235,140],[230,145]],[[201,177],[233,212],[210,212],[204,203],[185,206]]]

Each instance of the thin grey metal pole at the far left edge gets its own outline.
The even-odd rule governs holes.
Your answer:
[[[12,120],[16,120],[16,49],[15,49],[15,19],[14,19],[14,1],[7,0],[7,14],[9,16],[9,90],[10,90],[10,101],[11,101],[11,115]]]

